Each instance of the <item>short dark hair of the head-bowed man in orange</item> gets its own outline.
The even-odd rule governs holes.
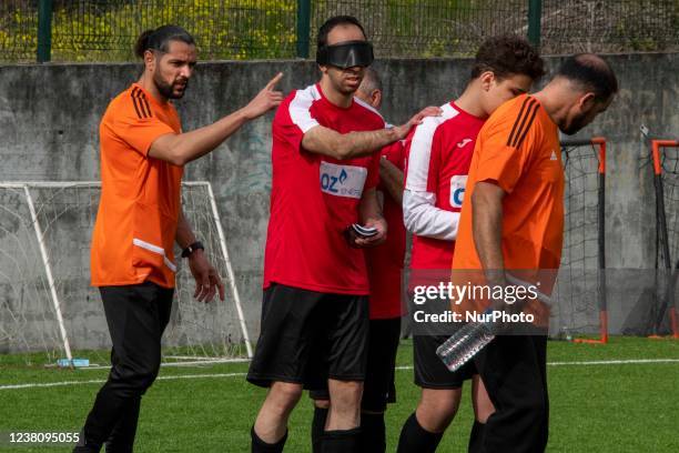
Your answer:
[[[595,93],[597,102],[604,102],[618,92],[618,79],[606,60],[594,53],[568,57],[556,77],[563,77],[585,91]]]

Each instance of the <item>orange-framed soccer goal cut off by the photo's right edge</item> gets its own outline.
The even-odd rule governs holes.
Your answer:
[[[662,331],[669,316],[670,330],[679,339],[676,290],[679,278],[679,140],[651,140],[656,189],[656,268],[660,280],[658,298],[662,309],[652,320],[652,330]]]

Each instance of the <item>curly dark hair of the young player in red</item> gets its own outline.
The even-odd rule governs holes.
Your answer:
[[[525,74],[533,80],[545,76],[545,62],[525,38],[500,34],[486,39],[476,52],[472,79],[491,71],[503,80],[514,74]]]

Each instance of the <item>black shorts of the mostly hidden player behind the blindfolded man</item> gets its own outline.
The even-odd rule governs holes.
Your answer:
[[[396,402],[396,351],[401,340],[401,318],[371,320],[368,361],[361,409],[384,412],[387,403]],[[312,400],[330,400],[327,386],[308,392]]]

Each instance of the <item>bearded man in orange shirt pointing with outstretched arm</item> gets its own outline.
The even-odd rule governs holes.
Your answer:
[[[170,99],[182,98],[193,72],[193,38],[164,26],[143,32],[135,52],[144,71],[111,101],[100,125],[102,190],[91,271],[113,344],[112,368],[74,449],[81,453],[99,452],[104,442],[108,452],[133,449],[141,396],[158,375],[170,320],[175,241],[189,259],[195,296],[209,302],[219,291],[224,300],[224,286],[182,213],[183,165],[283,99],[273,91],[278,74],[243,109],[182,133]]]

